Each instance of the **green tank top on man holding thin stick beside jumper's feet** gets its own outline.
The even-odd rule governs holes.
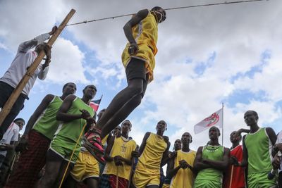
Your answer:
[[[85,104],[85,102],[83,102],[78,97],[74,99],[73,103],[71,104],[71,108],[68,109],[68,114],[80,115],[81,114],[80,110],[82,109],[88,111],[91,117],[94,116],[93,108]],[[72,120],[70,122],[60,123],[55,135],[56,137],[63,137],[71,142],[76,143],[80,135],[80,132],[82,130],[82,127],[83,125],[85,125],[85,123],[86,120],[82,118],[77,120]],[[79,146],[80,146],[80,142],[79,142]]]

